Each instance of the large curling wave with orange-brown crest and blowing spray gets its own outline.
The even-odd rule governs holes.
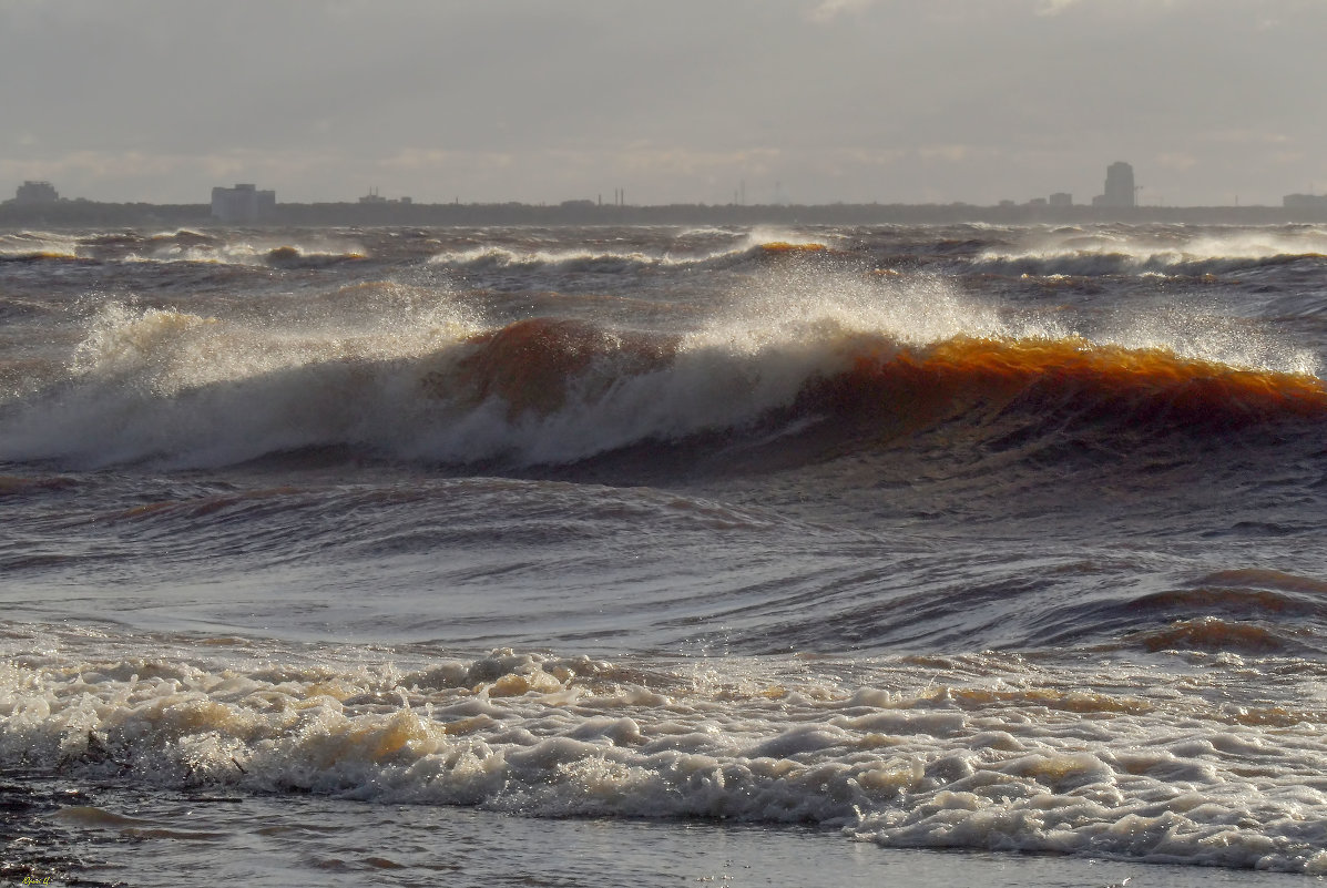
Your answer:
[[[937,280],[827,287],[795,272],[687,333],[551,317],[486,327],[446,300],[353,333],[107,304],[68,381],[5,407],[0,459],[208,466],[349,446],[529,467],[807,429],[841,454],[955,421],[999,438],[1327,414],[1294,350],[1192,331],[1170,348],[1129,341],[1013,321]]]

